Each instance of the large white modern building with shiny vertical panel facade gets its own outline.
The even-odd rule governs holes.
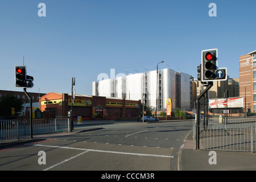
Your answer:
[[[192,105],[191,78],[192,76],[187,73],[166,68],[160,69],[158,75],[155,70],[94,81],[92,94],[93,96],[144,100],[144,104],[154,108],[158,97],[158,111],[165,111],[166,100],[171,98],[172,110],[176,107],[185,110],[191,109]]]

